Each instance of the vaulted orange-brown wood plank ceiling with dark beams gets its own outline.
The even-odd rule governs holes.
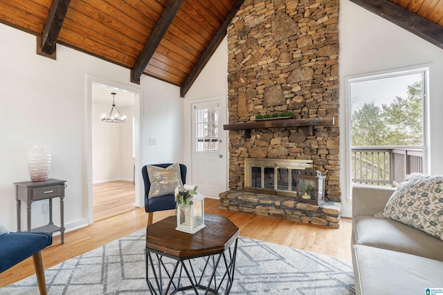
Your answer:
[[[256,1],[256,0],[255,0]],[[181,96],[254,0],[0,0],[0,22],[181,87]],[[350,0],[443,48],[443,0]],[[4,42],[5,40],[3,40]]]

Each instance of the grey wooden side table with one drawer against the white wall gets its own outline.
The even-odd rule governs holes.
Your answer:
[[[15,200],[17,200],[17,231],[21,231],[21,201],[26,202],[26,218],[28,231],[40,231],[53,234],[60,231],[62,244],[64,243],[64,187],[66,180],[48,179],[40,182],[24,181],[15,182]],[[53,198],[60,198],[60,227],[53,223]],[[31,204],[39,200],[49,200],[49,223],[43,227],[31,229]]]

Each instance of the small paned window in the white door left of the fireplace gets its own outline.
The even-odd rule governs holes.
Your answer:
[[[202,108],[196,111],[197,151],[219,150],[219,109]]]

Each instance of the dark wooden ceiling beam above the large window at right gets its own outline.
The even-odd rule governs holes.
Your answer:
[[[443,49],[443,27],[388,0],[350,0]]]

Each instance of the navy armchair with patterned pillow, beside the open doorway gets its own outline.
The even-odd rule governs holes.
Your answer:
[[[145,184],[145,211],[147,212],[148,227],[152,225],[155,211],[175,209],[174,189],[177,187],[177,183],[170,182],[170,180],[166,179],[166,176],[163,178],[163,171],[161,170],[171,169],[171,165],[173,164],[152,164],[143,166],[141,170]],[[180,178],[181,184],[185,184],[186,166],[183,164],[178,165],[179,171],[176,171],[177,178]],[[148,172],[148,166],[159,167],[159,169],[150,167],[150,171]],[[165,171],[165,174],[166,173],[168,173],[168,171]],[[151,176],[154,175],[155,179],[150,179],[150,174]]]

